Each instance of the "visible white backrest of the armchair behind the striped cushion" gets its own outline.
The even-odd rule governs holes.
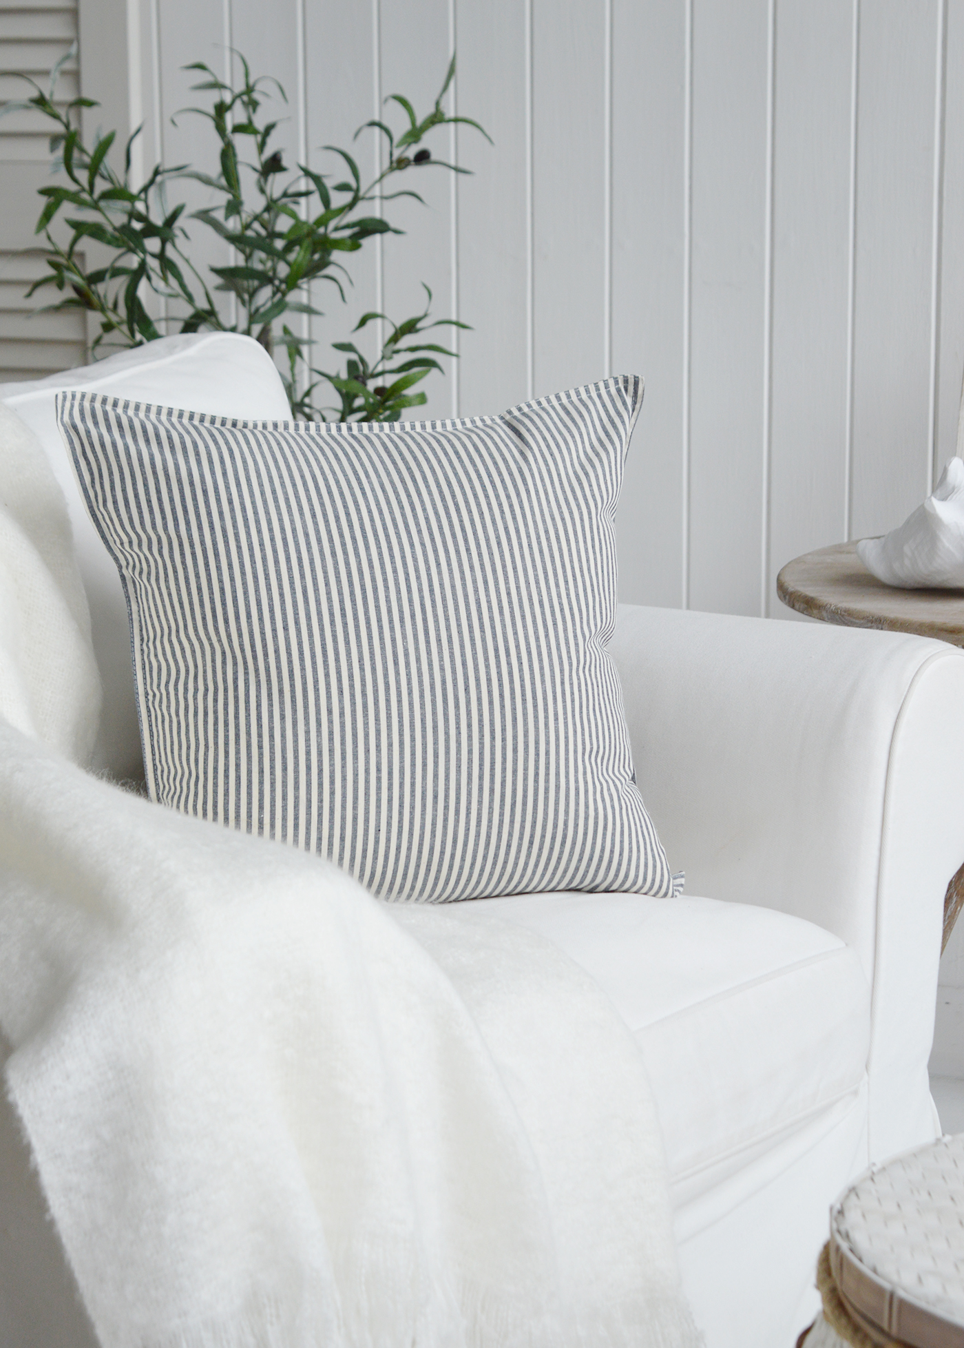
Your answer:
[[[290,408],[268,353],[251,337],[237,333],[162,337],[82,369],[66,369],[23,384],[0,384],[0,402],[12,407],[39,437],[67,499],[104,683],[104,714],[94,762],[117,778],[139,778],[143,770],[127,603],[117,569],[84,508],[57,427],[54,396],[59,388],[85,388],[251,421],[283,419],[290,417]]]

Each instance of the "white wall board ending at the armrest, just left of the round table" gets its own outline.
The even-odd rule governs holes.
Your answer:
[[[690,604],[759,613],[767,221],[766,0],[693,19]]]

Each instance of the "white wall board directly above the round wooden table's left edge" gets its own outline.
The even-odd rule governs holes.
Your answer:
[[[769,611],[777,573],[839,542],[847,492],[852,11],[778,7]]]

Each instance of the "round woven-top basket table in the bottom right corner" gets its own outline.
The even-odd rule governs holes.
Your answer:
[[[805,1348],[964,1348],[964,1134],[874,1166],[831,1209]]]

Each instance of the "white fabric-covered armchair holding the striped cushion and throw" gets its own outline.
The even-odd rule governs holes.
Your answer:
[[[193,398],[201,411],[282,415],[274,369],[243,356],[243,341],[169,340],[160,359],[125,357],[96,379],[128,396]],[[129,775],[123,599],[65,470],[44,384],[0,388],[0,399],[34,425],[73,492],[105,674],[101,758]],[[914,636],[628,607],[612,654],[639,786],[671,864],[685,867],[686,896],[480,906],[549,936],[635,1034],[708,1348],[791,1348],[816,1305],[833,1197],[868,1161],[938,1131],[926,1065],[942,898],[964,852],[964,654]],[[85,1348],[92,1330],[3,1109],[0,1343]]]

